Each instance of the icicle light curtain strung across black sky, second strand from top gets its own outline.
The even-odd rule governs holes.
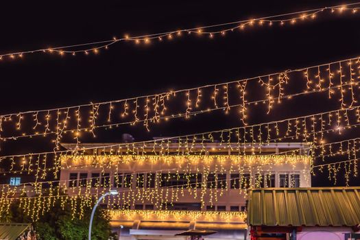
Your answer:
[[[353,61],[353,63],[351,63]],[[355,62],[354,62],[355,61]],[[348,64],[348,67],[350,68],[349,71],[351,71],[350,74],[350,78],[348,81],[342,81],[339,85],[335,85],[334,84],[334,80],[332,82],[329,82],[329,86],[327,88],[325,87],[316,87],[316,88],[311,88],[308,87],[305,91],[302,91],[300,93],[294,93],[291,95],[285,95],[284,93],[284,88],[285,85],[287,84],[287,82],[289,82],[289,73],[291,72],[296,72],[296,71],[305,71],[305,75],[304,77],[307,78],[307,76],[309,75],[309,69],[318,69],[318,66],[326,66],[329,67],[331,66],[331,64],[334,65],[334,67],[339,67],[340,66],[340,62],[344,62],[346,64]],[[245,79],[245,80],[239,80],[239,81],[235,81],[235,82],[226,82],[223,84],[214,84],[214,85],[206,85],[206,86],[201,86],[201,87],[197,87],[197,88],[189,88],[187,90],[180,90],[180,91],[171,91],[169,93],[160,93],[158,95],[148,95],[144,97],[135,97],[132,98],[132,100],[130,99],[121,99],[121,100],[115,100],[115,101],[106,101],[106,102],[101,102],[101,103],[97,103],[97,104],[84,104],[84,105],[80,105],[80,106],[71,106],[71,107],[67,107],[67,108],[54,108],[54,109],[49,109],[49,110],[38,110],[38,111],[27,111],[27,112],[19,112],[19,113],[14,113],[14,114],[9,114],[9,115],[0,115],[0,130],[3,130],[3,132],[5,130],[7,130],[8,128],[11,128],[12,126],[12,121],[16,121],[16,130],[20,131],[21,130],[21,125],[23,125],[22,123],[25,123],[27,121],[32,121],[34,122],[33,124],[36,125],[36,129],[34,130],[34,128],[31,129],[31,131],[34,131],[34,133],[25,133],[23,132],[22,134],[19,135],[13,135],[13,136],[4,136],[2,134],[0,140],[10,140],[10,139],[18,139],[21,137],[32,137],[32,136],[46,136],[48,134],[56,134],[56,145],[58,146],[58,144],[60,143],[60,139],[61,139],[61,135],[66,133],[66,132],[72,132],[74,133],[74,137],[79,139],[79,135],[80,135],[80,131],[82,132],[91,132],[93,134],[93,136],[95,136],[94,130],[96,128],[112,128],[112,127],[117,127],[118,125],[123,125],[123,124],[132,124],[134,125],[137,122],[143,122],[145,128],[147,130],[149,130],[149,122],[152,123],[159,123],[160,120],[169,120],[169,119],[175,119],[178,117],[185,117],[185,118],[189,118],[192,115],[199,115],[205,112],[211,112],[213,110],[224,110],[225,112],[228,112],[230,110],[230,108],[235,107],[235,106],[239,106],[241,107],[240,110],[240,115],[241,115],[241,121],[243,121],[246,125],[245,122],[245,118],[246,118],[246,106],[250,106],[250,104],[268,104],[268,112],[271,108],[274,107],[274,104],[276,103],[280,103],[281,99],[291,99],[292,97],[296,97],[296,96],[300,96],[300,95],[305,95],[305,94],[310,94],[310,93],[320,93],[320,92],[324,92],[324,91],[328,91],[329,93],[335,93],[335,91],[341,91],[341,97],[339,97],[339,101],[341,102],[341,106],[343,106],[343,108],[346,106],[345,105],[345,101],[346,99],[344,99],[345,97],[345,93],[346,93],[346,86],[348,86],[348,89],[350,90],[351,97],[352,97],[352,101],[351,103],[348,104],[348,106],[351,106],[353,104],[355,104],[357,102],[357,92],[355,92],[355,89],[358,89],[359,87],[359,79],[360,79],[360,73],[357,73],[354,71],[354,64],[358,64],[360,67],[360,59],[359,58],[351,58],[350,60],[341,60],[341,61],[337,61],[337,62],[333,62],[333,63],[326,63],[326,64],[322,64],[322,65],[317,65],[315,67],[307,67],[304,69],[296,69],[293,71],[285,71],[283,73],[274,73],[272,75],[266,75],[265,77],[268,77],[269,80],[272,77],[277,77],[278,78],[278,82],[276,84],[271,84],[271,83],[266,83],[262,80],[263,76],[259,76],[259,77],[254,77],[252,79]],[[358,67],[358,68],[359,68]],[[329,67],[330,68],[330,67]],[[344,68],[344,67],[341,67]],[[340,70],[339,70],[340,71]],[[343,73],[342,73],[343,74]],[[271,76],[271,77],[270,77]],[[341,76],[339,76],[341,77]],[[344,78],[344,77],[341,77]],[[246,95],[246,91],[245,91],[245,87],[246,87],[246,83],[248,83],[249,80],[258,80],[259,81],[259,87],[261,88],[261,86],[263,86],[264,84],[266,85],[267,89],[269,90],[266,95],[264,96],[264,99],[259,99],[259,100],[255,100],[255,101],[248,101],[248,99],[245,97]],[[329,81],[331,81],[331,79],[329,79]],[[219,97],[220,95],[220,91],[218,86],[223,86],[224,88],[224,93],[222,94],[222,96],[224,97],[224,104],[220,104],[219,101],[217,101],[217,97]],[[239,89],[238,91],[234,91],[231,92],[232,95],[232,99],[235,97],[235,95],[237,95],[238,99],[240,100],[239,104],[230,104],[229,103],[229,97],[230,97],[230,86],[232,86],[233,88],[237,88]],[[208,100],[213,101],[213,108],[208,108],[208,106],[200,106],[200,99],[204,98],[204,88],[208,88],[209,91],[211,91],[213,88],[213,95],[210,97],[208,96]],[[257,89],[256,89],[257,90]],[[274,91],[276,90],[276,91]],[[184,92],[185,91],[185,92]],[[195,91],[197,92],[197,94],[195,95]],[[175,96],[176,93],[186,93],[186,97],[187,97],[187,101],[186,101],[186,110],[184,109],[184,112],[180,112],[178,114],[174,114],[174,112],[171,112],[171,109],[169,109],[168,106],[165,106],[165,100],[169,100],[171,96]],[[192,95],[190,95],[190,93],[194,93]],[[277,93],[277,95],[275,96],[274,94]],[[191,99],[191,96],[193,96],[193,99]],[[330,97],[330,95],[329,95]],[[140,111],[140,106],[138,103],[140,103],[140,101],[144,101],[144,106],[145,108]],[[153,99],[153,104],[149,104],[150,99]],[[277,99],[277,101],[275,101],[275,99]],[[130,106],[130,104],[128,104],[128,102],[133,101],[135,104],[134,108],[131,110],[130,108],[132,106]],[[232,100],[233,101],[233,100]],[[239,101],[238,101],[239,102]],[[195,103],[195,107],[197,108],[197,110],[193,110],[193,103]],[[116,104],[121,104],[123,105],[122,108],[123,109],[118,109],[117,112],[115,111],[115,105]],[[150,107],[150,105],[152,105],[152,107]],[[106,108],[108,107],[108,116],[110,116],[110,118],[107,116],[106,117],[106,124],[102,124],[102,121],[99,121],[99,108]],[[88,114],[86,112],[86,109],[90,108],[90,114]],[[81,109],[81,110],[80,110]],[[160,110],[160,112],[159,112]],[[168,111],[168,112],[167,112]],[[122,113],[121,113],[122,112]],[[149,116],[150,113],[154,112],[154,117]],[[31,119],[25,119],[26,115],[32,114],[32,118]],[[62,123],[62,119],[60,118],[60,115],[65,114],[67,115],[68,119],[64,119],[65,123]],[[40,117],[41,115],[41,117]],[[55,115],[56,116],[56,126],[51,126],[50,123],[50,119],[51,119],[51,115]],[[85,116],[84,116],[85,115]],[[111,116],[112,115],[121,115],[121,117],[128,117],[128,115],[130,115],[130,117],[132,117],[131,121],[120,121],[117,123],[114,123],[115,119],[112,119]],[[84,119],[86,118],[86,116],[88,116],[88,124],[87,126],[85,124],[82,124],[83,127],[81,128],[80,124],[75,124],[75,119]],[[74,119],[73,120],[73,124],[69,123],[70,119]],[[110,121],[110,123],[109,123]],[[53,122],[52,122],[53,123]],[[9,125],[10,124],[10,125]],[[69,125],[73,125],[75,126],[75,128],[73,127],[68,127]],[[40,127],[43,126],[42,128],[44,128],[43,131],[40,131]],[[61,128],[60,128],[61,127]]]

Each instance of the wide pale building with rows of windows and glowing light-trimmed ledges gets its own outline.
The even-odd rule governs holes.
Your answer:
[[[95,150],[60,158],[60,186],[69,195],[118,189],[118,199],[103,204],[119,239],[184,239],[176,233],[189,229],[217,231],[209,239],[245,239],[248,188],[311,186],[306,143],[189,145],[84,143],[79,149]]]

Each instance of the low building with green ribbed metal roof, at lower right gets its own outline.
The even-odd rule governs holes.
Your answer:
[[[250,189],[248,201],[252,240],[360,239],[360,187]]]

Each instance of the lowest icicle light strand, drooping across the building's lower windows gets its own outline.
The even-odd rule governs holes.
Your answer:
[[[357,174],[355,168],[352,169],[352,167],[355,167],[357,165],[357,160],[359,160],[359,158],[352,158],[349,160],[341,160],[341,161],[337,161],[334,163],[328,163],[328,164],[324,164],[324,165],[315,165],[313,166],[313,168],[319,168],[320,171],[322,171],[322,169],[324,169],[325,167],[328,169],[329,171],[329,179],[332,180],[333,178],[335,178],[336,180],[336,176],[337,173],[339,171],[339,169],[341,168],[341,165],[344,165],[344,168],[346,169],[346,174],[350,175],[350,173],[354,173],[355,175]],[[287,162],[284,162],[287,163]],[[350,167],[349,167],[350,166]],[[241,171],[243,171],[243,169],[254,169],[257,166],[249,166],[249,167],[243,167]],[[206,169],[204,169],[204,171],[206,171]],[[212,172],[212,171],[211,171]],[[251,171],[250,171],[251,172]],[[257,173],[261,173],[261,169],[259,171],[256,171]],[[152,189],[140,189],[139,186],[136,186],[136,189],[134,189],[134,185],[130,184],[128,187],[125,187],[125,189],[121,189],[119,190],[119,193],[123,193],[123,196],[127,197],[122,197],[122,206],[130,206],[133,205],[134,202],[139,201],[139,199],[136,199],[136,196],[132,193],[136,192],[136,194],[142,195],[143,200],[145,200],[146,198],[151,200],[152,204],[156,204],[156,207],[158,209],[167,209],[167,204],[165,204],[165,206],[163,205],[163,203],[168,202],[167,201],[167,197],[165,197],[165,199],[163,198],[163,192],[164,189],[166,189],[166,192],[169,192],[169,189],[171,189],[171,192],[173,192],[173,189],[177,189],[176,190],[176,196],[172,196],[171,199],[171,203],[176,202],[176,200],[178,200],[179,197],[179,189],[180,191],[184,191],[184,189],[186,190],[191,190],[194,189],[194,193],[196,190],[197,191],[201,191],[200,195],[201,195],[201,201],[202,201],[202,206],[204,206],[205,204],[205,200],[204,200],[204,195],[210,195],[210,200],[208,200],[209,204],[214,204],[215,202],[217,202],[217,197],[218,197],[218,188],[217,188],[217,184],[219,184],[219,179],[215,180],[209,180],[209,178],[207,177],[209,173],[204,172],[204,180],[202,180],[201,185],[203,186],[200,189],[197,189],[197,184],[189,184],[189,182],[185,183],[185,184],[167,184],[165,186],[162,186],[160,183],[157,182],[156,186],[158,186],[158,188],[161,189],[160,193],[158,191],[158,189],[155,187],[156,190],[152,190]],[[163,171],[160,172],[160,175],[163,176]],[[156,180],[161,180],[161,181],[167,181],[166,179],[164,179],[163,177],[158,177],[159,174],[156,174]],[[206,177],[205,177],[206,176]],[[254,178],[253,175],[251,175],[252,178]],[[261,175],[260,175],[261,176]],[[138,180],[139,180],[139,175],[137,176]],[[239,194],[245,194],[245,188],[249,188],[249,187],[256,187],[260,181],[263,181],[264,177],[259,177],[255,175],[255,182],[252,182],[251,178],[250,178],[250,184],[248,182],[248,180],[244,181],[244,177],[243,177],[243,173],[239,174],[238,177],[230,177],[230,182],[235,182],[235,180],[239,180]],[[125,175],[123,176],[123,179],[125,178]],[[132,178],[130,178],[132,179]],[[136,180],[136,181],[138,181]],[[32,217],[32,219],[34,221],[37,221],[38,217],[45,213],[46,211],[49,211],[51,208],[51,202],[54,202],[56,200],[61,200],[62,201],[62,206],[64,206],[64,204],[71,204],[71,210],[73,211],[73,217],[77,216],[81,218],[81,212],[82,212],[82,207],[83,206],[91,206],[92,204],[94,204],[92,202],[92,198],[93,197],[98,197],[99,196],[99,190],[97,190],[97,193],[93,193],[90,191],[91,187],[90,186],[90,182],[86,180],[86,188],[84,188],[84,186],[80,186],[80,187],[66,187],[67,184],[62,185],[62,187],[64,187],[63,189],[61,189],[60,191],[60,187],[53,188],[51,187],[51,189],[49,189],[49,195],[43,195],[42,192],[42,184],[41,183],[36,183],[35,184],[35,189],[36,189],[36,193],[38,193],[37,196],[34,197],[14,197],[11,194],[9,194],[8,190],[5,187],[2,188],[1,190],[1,200],[0,200],[0,212],[1,213],[8,213],[8,209],[10,207],[10,204],[12,204],[12,202],[14,202],[14,200],[20,200],[20,208],[23,208],[23,211],[25,211],[26,215]],[[99,182],[99,181],[98,181]],[[213,188],[213,186],[215,185],[215,188]],[[53,184],[50,184],[50,186],[53,186]],[[220,182],[220,193],[219,195],[221,196],[221,193],[223,193],[224,189],[227,190],[228,187],[228,182],[226,182],[225,186],[223,186],[223,182]],[[241,187],[240,187],[241,186]],[[235,185],[233,186],[234,189]],[[99,188],[99,185],[97,185],[96,187],[97,189]],[[104,187],[104,189],[110,189],[110,186],[108,187]],[[213,191],[217,189],[217,191]],[[27,191],[25,188],[21,188],[19,187],[19,189],[12,189],[12,192],[16,192],[16,191],[21,191],[23,194],[28,193],[29,191]],[[58,192],[58,194],[56,194],[56,191]],[[63,195],[66,191],[68,191],[68,195]],[[215,192],[215,193],[214,193]],[[60,195],[61,193],[61,195]],[[74,194],[75,193],[75,194]],[[128,193],[128,194],[125,194]],[[102,194],[102,193],[101,193]],[[156,196],[154,197],[154,194],[156,194]],[[154,200],[154,198],[155,200]],[[197,198],[197,194],[193,196],[195,199]],[[113,198],[113,199],[116,199]],[[121,199],[121,197],[117,197],[117,201],[119,202]],[[176,199],[176,200],[175,200]],[[31,202],[32,200],[34,200],[34,202]],[[80,202],[82,202],[82,204],[80,204],[80,207],[77,208],[75,206],[76,200],[80,200]],[[84,202],[83,202],[84,201]],[[143,202],[143,201],[142,201]],[[83,205],[84,203],[84,205]],[[113,204],[114,202],[112,202]],[[24,205],[25,204],[25,205]],[[111,199],[108,202],[108,206],[111,206]],[[42,210],[41,212],[39,212],[39,210]]]

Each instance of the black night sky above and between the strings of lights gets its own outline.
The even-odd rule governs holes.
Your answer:
[[[351,2],[355,1],[0,3],[3,23],[0,52],[88,43],[124,34],[167,32]],[[360,53],[359,24],[359,14],[325,13],[315,21],[283,27],[250,27],[224,37],[215,36],[212,40],[206,36],[182,36],[162,43],[155,40],[149,45],[117,43],[97,55],[34,53],[21,60],[3,60],[0,62],[0,112],[163,93],[352,58]],[[291,81],[296,82],[296,78]],[[261,97],[265,92],[251,94]],[[264,114],[265,109],[252,111],[249,107],[249,121],[267,122],[338,108],[336,102],[317,100],[315,96],[286,101],[282,106],[275,106],[270,115]],[[121,140],[123,133],[143,141],[153,136],[177,136],[235,126],[241,126],[236,112],[224,115],[218,111],[161,123],[150,132],[142,125],[101,130],[97,132],[97,139],[82,141],[115,142]],[[345,139],[352,137],[344,136]],[[49,139],[41,138],[5,143],[1,147],[2,155],[52,149]],[[326,172],[313,178],[314,187],[332,184]],[[344,181],[337,184],[344,185]],[[350,184],[359,185],[360,178],[352,178]]]

